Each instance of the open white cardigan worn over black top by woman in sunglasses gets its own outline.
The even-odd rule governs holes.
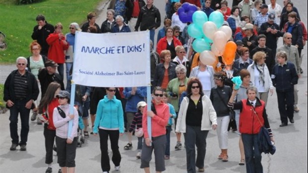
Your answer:
[[[212,124],[217,125],[216,111],[207,95],[202,96],[203,114],[201,120],[201,130],[211,130]],[[188,108],[189,98],[186,96],[181,102],[180,110],[177,116],[175,132],[186,133],[186,112]]]

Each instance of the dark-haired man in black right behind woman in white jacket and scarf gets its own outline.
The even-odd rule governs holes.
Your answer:
[[[251,51],[251,58],[253,57],[253,55],[256,52],[264,52],[266,54],[266,58],[265,58],[265,64],[270,72],[270,74],[272,74],[272,70],[275,66],[275,55],[273,54],[272,50],[268,47],[265,46],[266,44],[266,36],[264,34],[260,34],[257,38],[258,41],[258,46],[254,49],[252,49]]]

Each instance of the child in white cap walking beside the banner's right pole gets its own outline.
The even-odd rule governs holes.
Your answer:
[[[133,133],[133,131],[136,129],[136,125],[137,125],[137,130],[142,130],[142,114],[143,114],[143,110],[144,110],[146,105],[147,105],[147,103],[145,101],[138,102],[138,104],[137,104],[138,112],[134,116],[131,127],[129,129],[129,133]],[[136,155],[137,159],[141,158],[142,139],[143,139],[143,136],[138,137],[138,147],[137,147],[138,152],[137,152],[137,155]]]

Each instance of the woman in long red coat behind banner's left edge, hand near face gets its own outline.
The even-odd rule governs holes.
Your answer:
[[[55,32],[49,34],[46,41],[49,45],[48,59],[55,61],[58,66],[59,75],[64,77],[64,62],[65,62],[65,50],[69,49],[69,43],[65,40],[65,35],[62,33],[63,26],[59,22],[55,25]]]

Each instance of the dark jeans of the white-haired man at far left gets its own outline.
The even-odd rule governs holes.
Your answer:
[[[20,130],[20,145],[27,145],[29,133],[29,113],[30,109],[25,107],[27,101],[16,100],[14,105],[9,108],[9,131],[12,139],[12,144],[18,144],[19,137],[17,132],[18,113],[20,113],[21,130]]]

